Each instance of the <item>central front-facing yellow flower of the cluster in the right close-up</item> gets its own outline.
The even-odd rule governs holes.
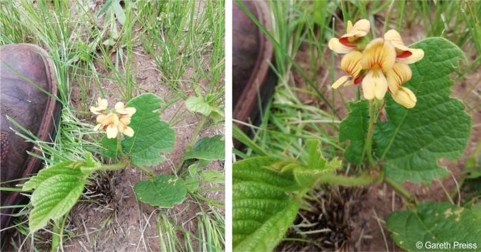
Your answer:
[[[396,51],[388,41],[376,38],[362,52],[361,66],[368,73],[362,80],[364,98],[382,100],[388,91],[388,81],[384,73],[389,71],[396,60]]]

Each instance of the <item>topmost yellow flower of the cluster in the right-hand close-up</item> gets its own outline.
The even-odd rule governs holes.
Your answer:
[[[366,36],[371,28],[371,24],[367,19],[361,19],[353,25],[348,21],[347,33],[341,38],[331,38],[329,40],[329,48],[338,54],[347,54],[357,49],[359,38]]]

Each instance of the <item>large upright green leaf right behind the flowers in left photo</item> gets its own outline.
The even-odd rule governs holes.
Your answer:
[[[160,120],[157,112],[163,101],[153,93],[144,93],[127,102],[126,107],[134,107],[131,124],[133,137],[122,140],[124,152],[131,154],[134,165],[157,165],[164,162],[160,152],[170,152],[174,146],[175,131],[168,123]]]

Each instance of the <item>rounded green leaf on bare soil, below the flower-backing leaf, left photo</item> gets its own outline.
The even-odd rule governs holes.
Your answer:
[[[150,181],[140,181],[133,188],[135,195],[149,205],[172,208],[186,199],[186,184],[173,175],[160,174]]]

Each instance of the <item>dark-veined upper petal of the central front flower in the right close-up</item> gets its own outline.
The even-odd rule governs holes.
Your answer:
[[[361,65],[363,69],[374,69],[379,67],[388,71],[396,61],[396,50],[388,41],[382,38],[375,38],[362,52]]]

